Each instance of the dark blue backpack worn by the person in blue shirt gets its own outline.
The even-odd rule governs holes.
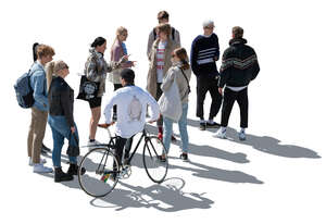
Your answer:
[[[33,97],[34,90],[30,86],[32,75],[29,70],[27,73],[23,74],[14,85],[16,98],[21,108],[30,108],[35,102]]]

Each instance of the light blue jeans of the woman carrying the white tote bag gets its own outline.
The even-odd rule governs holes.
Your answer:
[[[188,114],[188,103],[183,103],[183,114],[180,120],[178,121],[179,132],[183,141],[183,152],[188,152],[189,139],[187,132],[187,114]],[[171,136],[172,136],[172,125],[173,120],[163,116],[163,145],[166,149],[166,153],[168,153],[170,145],[171,145]]]

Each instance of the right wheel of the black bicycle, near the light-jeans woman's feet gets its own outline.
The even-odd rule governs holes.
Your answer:
[[[166,154],[163,142],[156,136],[146,138],[142,152],[142,162],[149,178],[154,183],[162,183],[167,174],[167,155],[166,161],[161,162],[159,155]]]

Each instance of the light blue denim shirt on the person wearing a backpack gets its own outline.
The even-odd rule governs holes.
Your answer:
[[[40,111],[48,111],[49,102],[45,67],[36,61],[30,69],[30,87],[34,90],[33,97],[35,99],[33,107]]]

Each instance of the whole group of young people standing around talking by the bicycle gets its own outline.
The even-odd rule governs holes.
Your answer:
[[[168,153],[171,141],[176,139],[173,135],[173,123],[178,124],[183,149],[180,159],[187,161],[189,145],[187,114],[191,71],[197,77],[196,115],[199,117],[199,128],[204,130],[221,126],[214,136],[226,138],[228,119],[234,102],[237,101],[241,115],[239,139],[246,140],[248,85],[256,77],[260,67],[254,50],[242,37],[243,29],[239,26],[233,28],[229,48],[223,54],[218,72],[216,61],[220,59],[220,46],[213,21],[205,21],[203,34],[192,41],[190,60],[187,50],[180,47],[179,32],[168,24],[168,13],[159,12],[158,21],[159,25],[150,32],[148,39],[147,54],[150,66],[147,90],[135,85],[135,72],[131,67],[136,65],[136,62],[128,60],[125,45],[128,30],[125,27],[118,27],[116,30],[109,62],[104,59],[106,40],[98,37],[91,43],[84,75],[87,80],[98,85],[98,91],[95,97],[87,99],[91,111],[88,147],[92,148],[100,144],[96,140],[98,126],[108,127],[116,123],[117,161],[122,164],[124,154],[124,163],[128,162],[133,137],[143,129],[147,116],[151,115],[148,122],[156,122],[158,137],[163,141],[166,153]],[[36,173],[53,172],[51,167],[43,165],[46,160],[40,158],[41,149],[46,148],[42,140],[48,122],[53,137],[54,182],[71,181],[78,171],[76,157],[68,157],[67,172],[63,172],[61,167],[64,138],[68,139],[70,146],[74,147],[78,147],[79,141],[73,113],[74,90],[64,80],[70,74],[68,65],[64,61],[52,62],[54,50],[50,46],[34,45],[33,49],[35,63],[30,69],[30,86],[34,90],[35,103],[32,108],[27,144],[29,165],[34,166]],[[114,92],[104,108],[105,123],[99,124],[106,80],[113,83]],[[173,89],[176,89],[178,94],[171,95]],[[203,104],[208,91],[212,97],[212,103],[209,120],[205,121]],[[161,101],[168,95],[172,97],[165,100],[163,112]],[[170,103],[171,105],[179,104],[178,115],[175,115],[174,108],[168,107]],[[221,105],[222,122],[217,124],[214,117]],[[165,162],[166,157],[167,154],[161,154],[160,160]],[[84,172],[82,171],[82,174]]]

